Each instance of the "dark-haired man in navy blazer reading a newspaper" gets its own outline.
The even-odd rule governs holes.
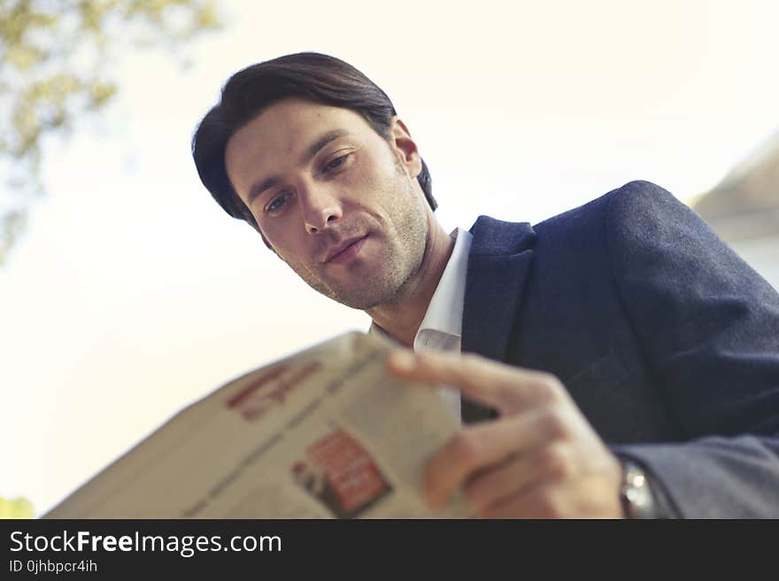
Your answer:
[[[779,295],[665,190],[449,236],[389,97],[314,53],[236,73],[193,156],[311,287],[414,349],[390,371],[459,390],[432,506],[463,487],[486,517],[779,516]]]

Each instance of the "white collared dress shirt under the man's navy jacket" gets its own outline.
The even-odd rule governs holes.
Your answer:
[[[414,337],[414,351],[435,349],[459,353],[462,348],[463,302],[466,294],[468,253],[473,236],[462,228],[457,228],[450,236],[454,239],[454,248]],[[382,335],[391,340],[390,336],[375,324],[371,325],[368,333]],[[459,391],[451,387],[441,387],[438,392],[452,415],[462,422]]]

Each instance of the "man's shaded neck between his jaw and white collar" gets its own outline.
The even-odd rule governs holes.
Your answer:
[[[392,302],[366,310],[375,325],[409,348],[413,347],[414,337],[454,248],[454,241],[432,216],[428,217],[428,232],[420,269],[408,279]]]

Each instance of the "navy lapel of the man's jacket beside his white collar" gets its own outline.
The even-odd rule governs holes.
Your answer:
[[[471,233],[462,350],[502,362],[528,279],[536,232],[528,223],[480,216]],[[465,423],[494,417],[491,409],[466,398],[461,401]]]

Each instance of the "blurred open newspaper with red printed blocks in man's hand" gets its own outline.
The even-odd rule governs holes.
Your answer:
[[[43,518],[460,518],[422,470],[459,425],[390,376],[390,348],[345,333],[183,409]]]

